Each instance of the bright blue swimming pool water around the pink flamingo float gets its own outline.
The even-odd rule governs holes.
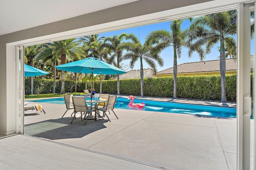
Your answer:
[[[89,98],[88,98],[89,100]],[[29,102],[43,102],[50,104],[64,104],[64,98],[30,100]],[[206,115],[216,117],[236,117],[236,108],[201,106],[193,104],[179,104],[171,102],[158,102],[150,100],[134,100],[134,103],[145,102],[146,106],[140,110],[160,111],[167,113],[183,113],[193,115]],[[117,98],[115,108],[118,109],[136,109],[128,107],[129,101],[126,98]]]

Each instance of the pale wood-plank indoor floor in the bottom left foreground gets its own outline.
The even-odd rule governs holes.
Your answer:
[[[24,135],[14,135],[0,139],[0,169],[159,170],[165,168]]]

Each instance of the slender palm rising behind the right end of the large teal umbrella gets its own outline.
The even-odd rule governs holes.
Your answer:
[[[123,49],[119,48],[120,45],[122,45],[122,41],[127,36],[126,33],[122,33],[119,36],[114,35],[113,37],[106,37],[104,39],[103,46],[110,49],[110,51],[113,53],[112,56],[110,56],[111,59],[116,57],[116,67],[120,68],[120,63],[123,60]],[[117,94],[120,94],[120,81],[119,81],[119,75],[117,75]]]

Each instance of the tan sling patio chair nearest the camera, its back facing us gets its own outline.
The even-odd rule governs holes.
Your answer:
[[[88,116],[86,116],[87,113],[89,115],[90,113],[92,113],[93,110],[87,108],[87,105],[86,105],[86,102],[85,102],[85,97],[73,96],[72,100],[73,100],[73,106],[74,106],[74,117],[73,117],[70,124],[72,124],[73,120],[75,119],[76,113],[80,112],[81,113],[81,119],[82,119],[82,115],[84,115],[84,118],[82,119],[82,121],[84,121],[84,119],[86,119],[85,123],[84,123],[84,125],[85,125],[86,121],[88,119]],[[95,116],[96,115],[94,115],[94,117]]]

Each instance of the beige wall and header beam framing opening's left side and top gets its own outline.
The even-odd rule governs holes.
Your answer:
[[[186,17],[186,13],[203,12],[243,0],[140,0],[106,10],[77,16],[0,36],[0,134],[14,133],[14,55],[13,45],[52,40],[68,35],[120,29],[147,23],[148,20]],[[202,3],[205,2],[205,3]],[[202,4],[200,4],[202,3]],[[195,5],[193,5],[195,4]],[[192,5],[192,6],[191,6]],[[183,7],[184,6],[184,7]],[[10,7],[11,8],[11,7]],[[26,18],[24,18],[26,20]],[[15,22],[15,21],[14,21]],[[7,46],[6,44],[10,44]]]

